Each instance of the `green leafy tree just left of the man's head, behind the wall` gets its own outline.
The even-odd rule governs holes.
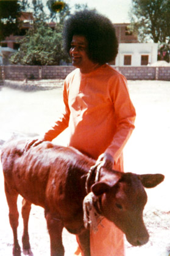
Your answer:
[[[24,0],[27,1],[27,0]],[[10,62],[21,65],[60,65],[61,61],[69,62],[68,54],[63,50],[62,30],[63,23],[71,12],[65,2],[60,12],[55,12],[51,7],[56,2],[46,2],[50,14],[44,12],[42,0],[32,0],[34,23],[26,36],[19,40],[19,51],[12,54]],[[79,5],[78,9],[87,9],[87,5]],[[51,29],[48,22],[54,21],[55,28]]]

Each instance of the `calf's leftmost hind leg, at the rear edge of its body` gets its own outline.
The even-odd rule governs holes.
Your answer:
[[[10,188],[5,183],[5,195],[7,197],[7,203],[9,205],[9,221],[13,231],[13,256],[21,256],[21,248],[18,243],[17,227],[18,227],[18,208],[17,199],[18,193]]]

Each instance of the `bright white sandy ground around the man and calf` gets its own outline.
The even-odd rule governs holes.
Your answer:
[[[53,81],[54,82],[54,81]],[[54,84],[57,85],[56,81]],[[130,96],[136,108],[136,129],[124,149],[125,171],[138,174],[162,173],[165,181],[147,191],[144,222],[150,234],[149,242],[133,247],[127,241],[126,256],[169,256],[170,254],[170,82],[128,81]],[[62,86],[54,90],[23,91],[0,87],[0,144],[12,132],[34,136],[51,126],[63,107]],[[55,140],[66,144],[67,131]],[[0,255],[12,255],[12,230],[8,219],[2,171],[0,172]],[[18,208],[21,206],[19,197]],[[21,218],[21,217],[20,217]],[[22,219],[19,219],[18,238],[21,242]],[[49,255],[49,236],[43,209],[32,206],[29,222],[30,244],[34,256]],[[66,256],[76,249],[74,235],[63,231]],[[102,255],[99,255],[102,256]],[[109,256],[109,255],[108,255]]]

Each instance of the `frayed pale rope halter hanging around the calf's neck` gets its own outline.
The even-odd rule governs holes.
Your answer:
[[[97,225],[102,221],[103,217],[97,212],[95,205],[97,208],[99,207],[99,197],[95,196],[93,192],[88,191],[88,183],[90,182],[91,176],[93,172],[96,170],[95,182],[99,181],[99,176],[101,172],[102,165],[101,163],[97,163],[97,165],[91,166],[90,171],[88,172],[85,188],[87,191],[87,196],[85,196],[83,200],[83,221],[84,226],[87,229],[90,227],[94,233],[97,232]]]

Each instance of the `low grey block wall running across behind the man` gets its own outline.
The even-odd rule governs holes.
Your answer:
[[[65,79],[74,66],[0,66],[0,80]],[[128,80],[170,80],[170,67],[116,67]]]

